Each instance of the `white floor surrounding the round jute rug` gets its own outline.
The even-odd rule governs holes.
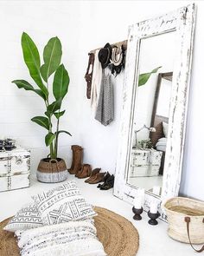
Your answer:
[[[73,175],[69,175],[68,180],[73,179],[75,179]],[[140,236],[140,246],[137,256],[195,255],[189,245],[182,244],[169,238],[167,234],[168,226],[162,220],[159,220],[159,225],[150,226],[147,222],[149,219],[146,213],[143,213],[143,220],[133,220],[131,205],[114,197],[112,195],[112,189],[101,191],[97,188],[97,185],[89,185],[79,179],[76,179],[76,181],[86,200],[93,205],[106,207],[123,215],[126,219],[131,220],[133,225],[137,227]],[[58,185],[38,182],[35,177],[33,177],[29,188],[0,193],[0,221],[14,215],[24,203],[29,202],[31,195],[56,186]]]

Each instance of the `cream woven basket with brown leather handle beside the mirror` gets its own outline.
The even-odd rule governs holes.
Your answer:
[[[204,243],[204,202],[175,197],[165,203],[164,209],[171,238],[184,243]]]

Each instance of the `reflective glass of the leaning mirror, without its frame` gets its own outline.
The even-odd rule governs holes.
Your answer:
[[[137,86],[127,183],[162,193],[169,108],[175,60],[175,31],[140,40],[139,74],[152,73]],[[140,76],[141,77],[141,76]]]

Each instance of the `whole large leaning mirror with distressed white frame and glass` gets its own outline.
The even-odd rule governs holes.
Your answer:
[[[194,4],[132,25],[114,194],[144,209],[176,196],[182,175]]]

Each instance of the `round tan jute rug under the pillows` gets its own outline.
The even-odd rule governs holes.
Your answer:
[[[135,256],[139,246],[139,235],[131,221],[105,208],[95,207],[98,213],[95,226],[99,241],[108,256]],[[14,233],[3,230],[9,219],[0,222],[0,255],[19,256]],[[40,255],[39,255],[40,256]]]

